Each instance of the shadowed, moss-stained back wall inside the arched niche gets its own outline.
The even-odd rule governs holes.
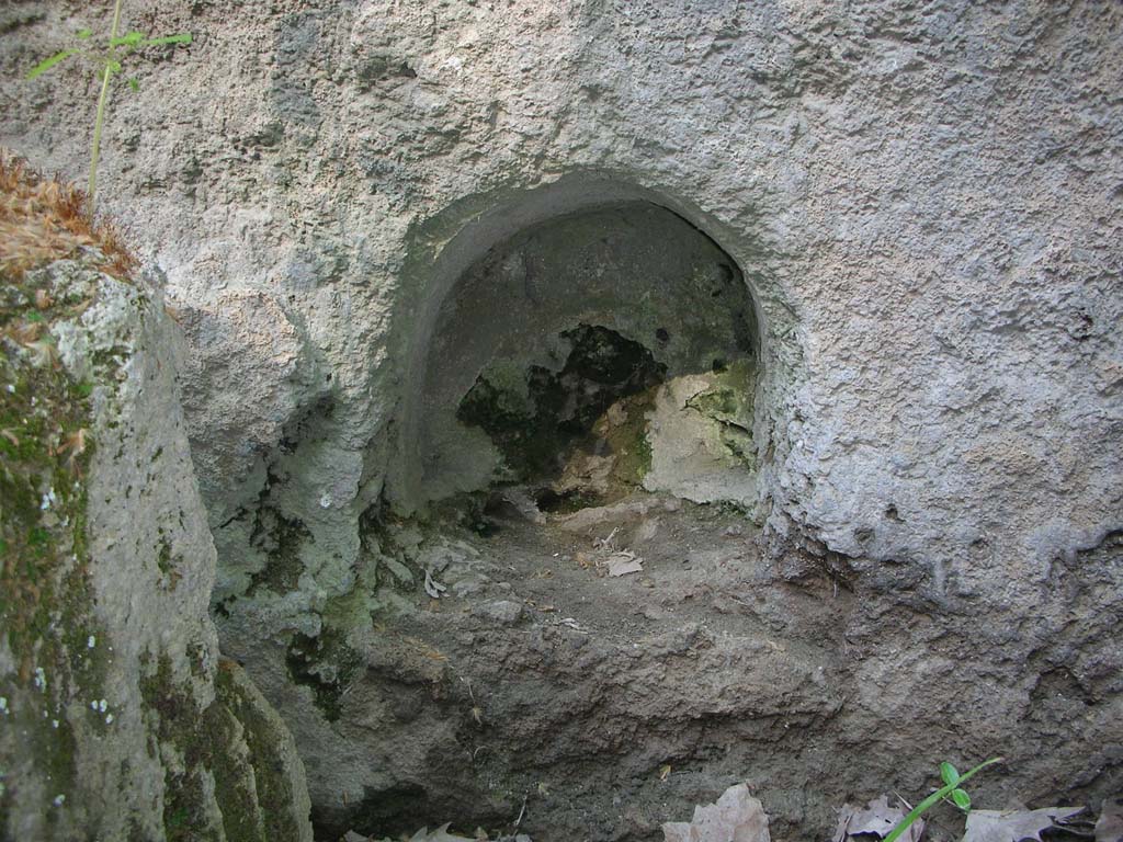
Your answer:
[[[530,226],[459,278],[423,382],[422,495],[526,485],[751,496],[752,302],[737,264],[650,202]]]

